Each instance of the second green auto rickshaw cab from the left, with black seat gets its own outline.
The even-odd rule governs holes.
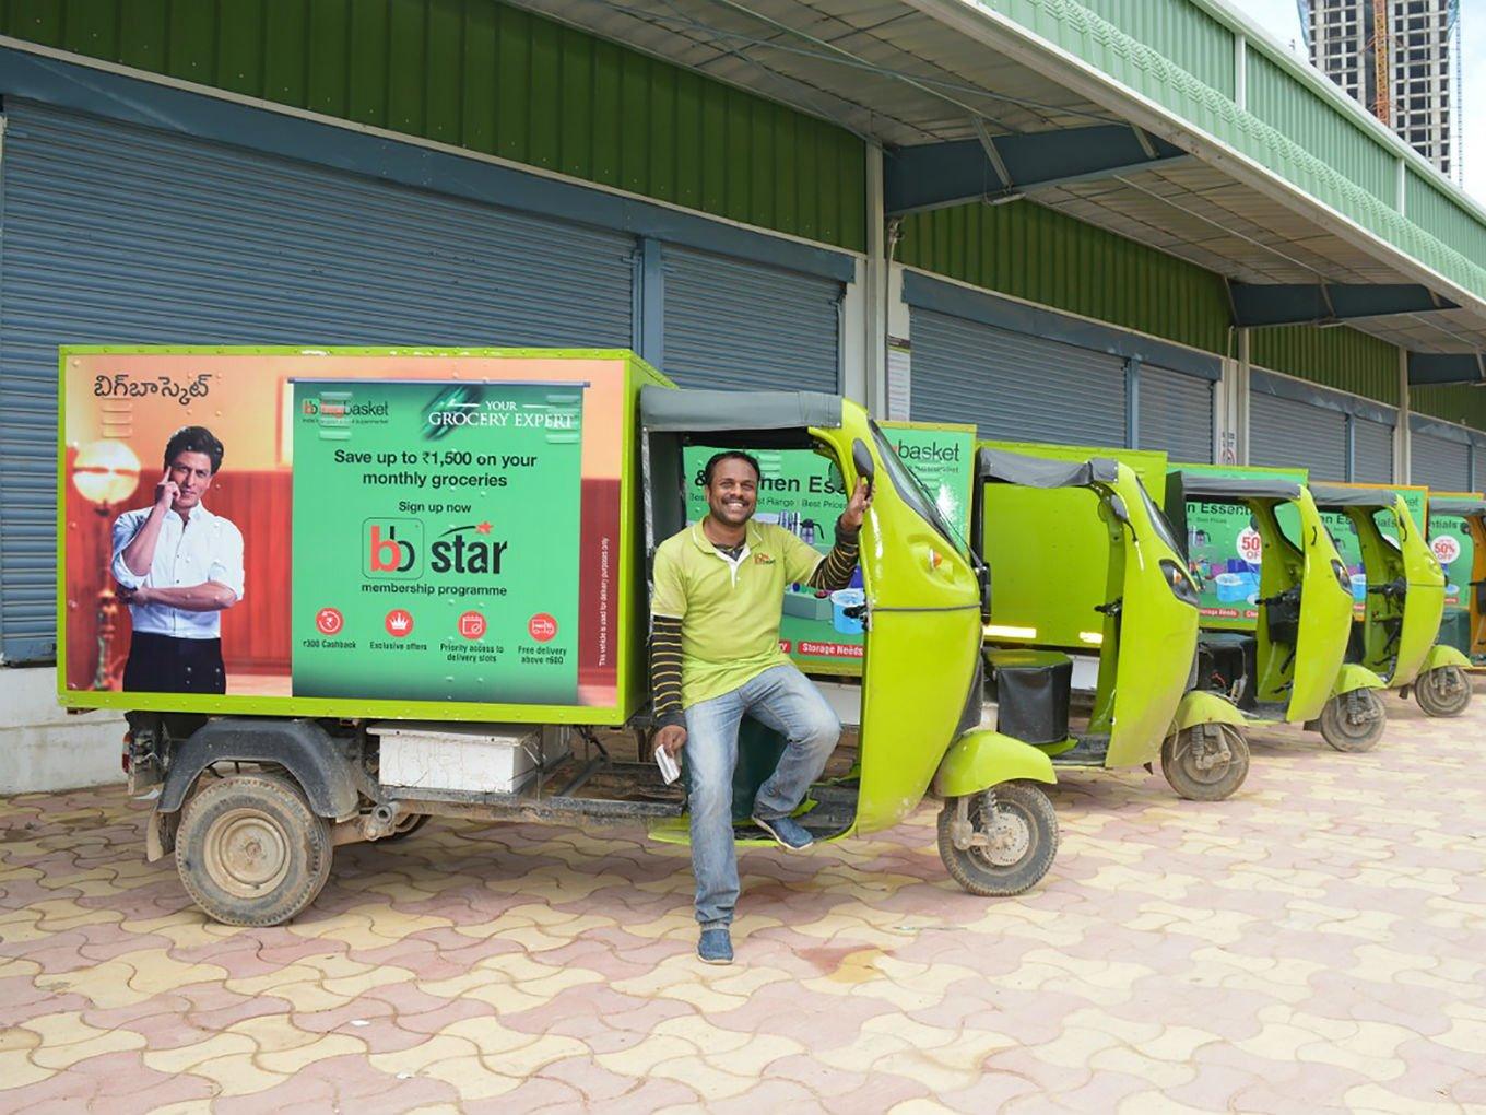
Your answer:
[[[997,498],[1006,488],[1028,489],[1030,498]],[[1083,513],[1097,513],[1109,537],[1103,598],[1085,602],[1098,614],[1086,624],[1094,630],[1077,633],[1082,647],[1028,641],[1034,629],[1015,626],[1022,610],[997,610],[999,553],[1015,560],[1008,549],[1028,538],[1068,537],[1068,517]],[[972,538],[993,569],[987,712],[1003,731],[1039,746],[1055,767],[1149,767],[1159,757],[1171,788],[1198,801],[1226,798],[1244,783],[1244,715],[1224,696],[1192,687],[1198,587],[1165,514],[1129,465],[982,447]],[[1060,571],[1042,566],[1016,563],[1015,581],[1058,584]],[[1005,611],[1013,613],[1012,624]],[[1098,647],[1094,706],[1088,724],[1070,730],[1070,651],[1089,644]]]

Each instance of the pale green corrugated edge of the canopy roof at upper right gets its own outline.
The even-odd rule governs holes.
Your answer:
[[[1198,3],[1198,0],[1187,1]],[[1427,230],[1403,217],[1392,205],[1348,177],[1342,168],[1331,165],[1327,155],[1348,164],[1348,169],[1358,175],[1363,175],[1366,168],[1361,164],[1367,159],[1354,167],[1351,159],[1342,158],[1339,149],[1326,143],[1320,155],[1309,150],[1306,147],[1311,138],[1309,128],[1305,129],[1305,135],[1288,135],[1281,126],[1263,120],[1254,112],[1239,109],[1229,92],[1213,88],[1156,46],[1135,39],[1076,0],[979,0],[979,6],[1015,22],[1024,34],[1036,36],[1129,92],[1165,109],[1193,131],[1263,167],[1467,294],[1486,300],[1486,268],[1480,262],[1441,239],[1438,227]],[[1219,10],[1205,0],[1202,7]],[[1279,52],[1271,51],[1265,40],[1250,42],[1256,55],[1269,62],[1278,58]],[[1303,91],[1303,86],[1296,88]],[[1320,91],[1308,91],[1306,95],[1324,104],[1324,94]],[[1333,112],[1339,125],[1369,138],[1357,122],[1346,119],[1342,106]],[[1281,119],[1279,123],[1291,126],[1293,122]],[[1386,137],[1370,138],[1388,158],[1404,158],[1410,168],[1415,167],[1415,161],[1404,155],[1401,141],[1394,152]],[[1370,177],[1367,180],[1372,181]],[[1443,178],[1440,181],[1443,183]],[[1464,195],[1452,201],[1464,217],[1486,227],[1486,211],[1465,201]]]

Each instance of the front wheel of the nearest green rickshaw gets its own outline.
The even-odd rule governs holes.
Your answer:
[[[1031,782],[1003,782],[948,798],[939,810],[939,858],[950,877],[982,898],[1034,888],[1058,855],[1058,813]]]

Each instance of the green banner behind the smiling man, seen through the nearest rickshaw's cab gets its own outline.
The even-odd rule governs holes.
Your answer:
[[[975,428],[884,422],[883,433],[935,497],[947,522],[960,531],[961,538],[966,537]],[[692,445],[685,450],[688,523],[700,522],[707,513],[703,471],[707,459],[725,447]],[[755,519],[783,526],[822,555],[828,553],[835,544],[835,520],[847,501],[846,483],[835,462],[810,449],[758,450],[753,456],[762,473]],[[846,610],[865,599],[860,569],[853,574],[849,587],[832,593],[808,584],[788,586],[779,627],[780,645],[801,669],[859,675],[862,621],[847,615]]]

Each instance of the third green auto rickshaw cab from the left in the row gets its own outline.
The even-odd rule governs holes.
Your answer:
[[[1178,468],[1167,516],[1199,586],[1216,581],[1226,601],[1202,617],[1198,687],[1253,724],[1305,724],[1337,751],[1373,748],[1386,727],[1382,681],[1345,660],[1351,578],[1305,485]],[[1202,525],[1223,516],[1244,523],[1236,558],[1214,552]]]

